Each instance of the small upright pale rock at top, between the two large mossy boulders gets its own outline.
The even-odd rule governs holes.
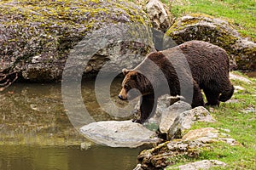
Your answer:
[[[166,32],[172,25],[172,14],[159,0],[149,0],[146,4],[146,12],[155,29]]]

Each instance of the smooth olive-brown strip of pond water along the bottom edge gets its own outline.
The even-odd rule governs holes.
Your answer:
[[[0,169],[4,170],[129,170],[136,166],[139,149],[94,146],[89,150],[70,147],[5,145],[0,149]]]

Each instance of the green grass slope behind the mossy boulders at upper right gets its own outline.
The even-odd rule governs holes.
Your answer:
[[[166,1],[162,1],[166,3]],[[242,37],[256,40],[256,1],[255,0],[180,0],[169,1],[171,13],[175,17],[190,13],[210,14],[229,20]]]

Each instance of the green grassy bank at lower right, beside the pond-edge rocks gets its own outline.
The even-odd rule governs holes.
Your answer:
[[[224,161],[227,167],[212,169],[256,169],[256,79],[250,80],[253,83],[232,81],[234,85],[246,89],[233,95],[232,99],[238,102],[221,103],[220,107],[207,108],[211,110],[216,122],[197,122],[192,127],[214,127],[221,132],[221,129],[230,129],[230,133],[227,134],[241,145],[230,146],[222,142],[212,144],[211,150],[202,150],[196,159],[181,158],[182,162],[178,162],[179,165],[183,165],[184,162],[214,159]],[[248,108],[254,108],[254,111],[246,112]]]

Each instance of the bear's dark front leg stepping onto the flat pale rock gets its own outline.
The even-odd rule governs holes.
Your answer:
[[[140,100],[140,119],[133,122],[143,123],[148,120],[150,115],[153,115],[156,110],[157,99],[154,99],[154,94],[143,95]]]

